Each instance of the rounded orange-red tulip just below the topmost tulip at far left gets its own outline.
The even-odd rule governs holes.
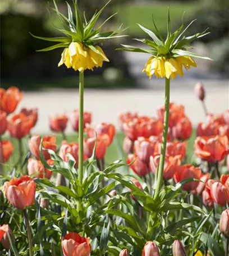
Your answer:
[[[33,127],[33,117],[26,116],[24,113],[13,115],[8,120],[7,129],[12,137],[21,139],[28,135]]]

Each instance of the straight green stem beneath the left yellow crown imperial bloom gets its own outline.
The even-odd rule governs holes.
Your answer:
[[[83,162],[84,162],[84,71],[80,72],[79,81],[79,168],[78,177],[80,184],[83,183]]]

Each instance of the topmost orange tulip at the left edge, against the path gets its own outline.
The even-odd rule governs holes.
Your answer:
[[[0,109],[7,113],[12,113],[22,97],[23,93],[15,86],[11,86],[7,90],[0,88]]]

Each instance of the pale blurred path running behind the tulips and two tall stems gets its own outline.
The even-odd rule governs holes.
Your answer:
[[[123,111],[136,111],[140,115],[155,116],[156,109],[163,105],[164,85],[162,79],[148,80],[145,76],[138,77],[139,89],[123,90],[85,90],[85,110],[93,113],[93,125],[99,122],[112,122],[118,125],[117,115]],[[204,120],[204,113],[199,100],[194,94],[194,85],[201,81],[207,90],[206,104],[209,112],[220,113],[229,107],[228,80],[198,79],[185,77],[171,83],[171,102],[184,104],[187,116],[194,125]],[[39,120],[33,134],[49,132],[48,117],[78,107],[78,91],[46,90],[26,92],[20,103],[21,107],[38,107]],[[71,132],[68,124],[67,132]]]

